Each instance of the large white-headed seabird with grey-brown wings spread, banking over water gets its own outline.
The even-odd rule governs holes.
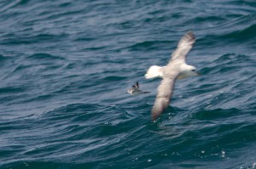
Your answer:
[[[172,98],[173,88],[177,79],[183,79],[189,76],[200,76],[196,71],[196,67],[186,63],[186,57],[190,49],[195,43],[195,35],[193,31],[188,31],[183,35],[177,43],[176,50],[172,53],[172,57],[166,66],[152,65],[145,78],[162,77],[157,94],[151,110],[151,120],[157,120],[166,110]]]

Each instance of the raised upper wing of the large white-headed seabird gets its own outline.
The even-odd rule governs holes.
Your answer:
[[[195,42],[195,35],[193,31],[188,31],[181,40],[177,43],[177,49],[172,53],[172,59],[182,59],[186,60],[187,54],[189,54],[190,49],[193,47]]]

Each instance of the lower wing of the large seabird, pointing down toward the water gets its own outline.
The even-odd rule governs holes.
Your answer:
[[[173,93],[174,83],[177,79],[177,74],[173,74],[170,78],[164,78],[157,88],[157,95],[154,101],[154,106],[151,110],[152,121],[155,121],[166,107],[170,104],[170,99]]]

